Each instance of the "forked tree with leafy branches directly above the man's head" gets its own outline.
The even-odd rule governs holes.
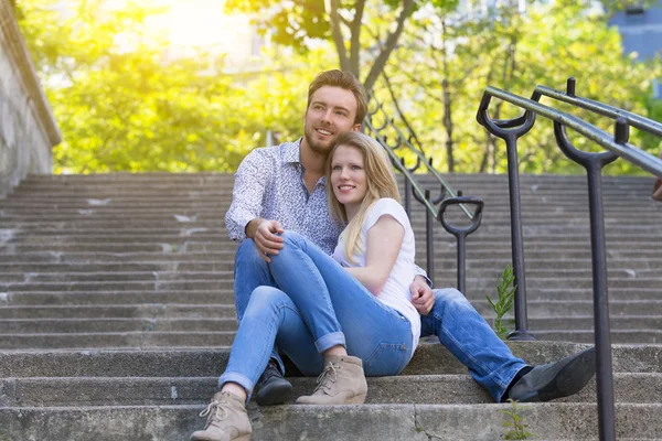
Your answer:
[[[457,0],[227,0],[228,11],[250,13],[274,41],[306,53],[311,41],[333,42],[338,66],[353,73],[367,89],[396,50],[412,14],[425,4],[455,8]],[[367,28],[373,28],[370,32]],[[362,75],[367,71],[366,75]]]

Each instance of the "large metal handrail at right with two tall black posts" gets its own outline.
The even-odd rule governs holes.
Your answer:
[[[537,103],[541,96],[548,96],[604,116],[616,118],[613,135],[610,135],[576,116]],[[524,115],[509,120],[491,119],[489,116],[489,105],[492,97],[502,99],[503,101],[524,109]],[[662,178],[662,160],[628,143],[630,126],[661,137],[662,126],[659,122],[636,114],[587,98],[576,97],[574,78],[568,80],[566,94],[544,86],[538,86],[536,87],[532,99],[494,87],[488,87],[485,89],[477,114],[478,122],[485,127],[492,135],[502,138],[505,141],[508,149],[513,267],[515,283],[517,283],[517,289],[515,291],[515,332],[513,333],[516,338],[531,338],[526,320],[526,283],[524,280],[524,248],[521,226],[516,142],[520,137],[531,130],[535,123],[536,115],[553,120],[554,136],[559,149],[567,158],[581,164],[587,171],[591,235],[595,345],[597,357],[598,421],[600,440],[611,441],[616,440],[616,428],[601,171],[605,165],[616,161],[620,157],[639,165],[641,169]],[[587,153],[577,150],[568,140],[566,128],[570,128],[579,135],[595,141],[597,144],[607,149],[607,151],[600,153]]]

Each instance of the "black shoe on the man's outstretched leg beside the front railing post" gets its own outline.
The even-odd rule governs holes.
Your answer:
[[[596,349],[581,351],[556,363],[536,366],[511,387],[508,397],[520,402],[549,401],[577,394],[596,373]]]

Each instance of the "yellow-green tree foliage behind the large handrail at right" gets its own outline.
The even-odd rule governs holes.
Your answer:
[[[651,80],[662,74],[659,61],[638,63],[622,54],[620,36],[607,18],[585,6],[530,3],[522,13],[505,4],[487,14],[461,15],[436,10],[412,22],[402,49],[386,72],[396,95],[413,97],[406,117],[426,151],[448,171],[504,172],[505,148],[476,122],[476,110],[488,85],[530,96],[537,84],[563,88],[568,76],[578,80],[577,93],[649,115]],[[377,87],[381,84],[377,85]],[[587,111],[568,109],[589,122],[612,131],[612,122]],[[648,108],[647,108],[648,106]],[[491,106],[495,118],[521,112],[514,106]],[[636,144],[654,152],[658,142],[633,132]],[[584,138],[574,139],[591,150]],[[552,123],[538,117],[520,142],[521,170],[534,173],[576,173],[579,168],[563,157],[552,135]],[[610,172],[634,172],[617,161]]]

